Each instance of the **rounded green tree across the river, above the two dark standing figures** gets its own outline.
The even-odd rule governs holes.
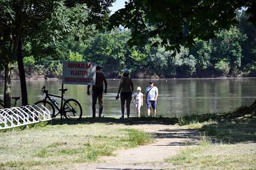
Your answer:
[[[127,67],[129,46],[126,41],[130,38],[129,31],[114,29],[109,33],[100,33],[87,47],[87,60],[105,65],[105,70],[112,70],[113,75]]]

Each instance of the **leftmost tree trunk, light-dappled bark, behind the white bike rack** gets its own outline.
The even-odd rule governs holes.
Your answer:
[[[4,108],[11,107],[11,64],[9,61],[4,68]]]

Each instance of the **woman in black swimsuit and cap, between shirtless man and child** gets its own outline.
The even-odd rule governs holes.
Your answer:
[[[116,95],[116,99],[119,99],[119,93],[121,98],[121,111],[122,116],[120,119],[124,118],[124,104],[126,103],[127,118],[130,116],[130,102],[132,101],[132,92],[134,91],[134,83],[130,78],[130,73],[128,69],[123,70],[123,76],[120,79],[119,89]]]

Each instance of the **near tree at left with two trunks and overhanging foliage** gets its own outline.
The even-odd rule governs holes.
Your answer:
[[[92,9],[88,10],[85,2],[90,4]],[[67,39],[70,34],[75,34],[77,39],[85,38],[88,33],[92,33],[88,29],[95,30],[94,26],[89,24],[95,22],[93,17],[99,18],[95,22],[99,25],[109,12],[107,7],[111,6],[111,2],[113,1],[1,1],[0,42],[3,58],[1,63],[5,67],[5,107],[11,106],[11,63],[16,57],[19,65],[22,104],[27,104],[22,43],[30,41],[38,47],[38,44],[47,45],[52,41],[56,46],[58,41]]]

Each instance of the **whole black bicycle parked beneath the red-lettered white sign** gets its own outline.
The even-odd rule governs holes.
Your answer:
[[[46,90],[45,88],[46,87],[43,86],[41,89],[42,95],[45,94],[44,99],[38,102],[35,102],[34,105],[37,105],[38,107],[41,107],[41,105],[43,105],[44,107],[46,107],[50,111],[51,118],[55,118],[59,114],[61,115],[61,119],[62,119],[62,116],[65,116],[65,118],[68,120],[70,119],[79,120],[82,117],[82,107],[80,103],[75,99],[64,99],[64,94],[67,91],[67,89],[63,89],[62,87],[62,89],[59,89],[59,91],[61,91],[61,95],[53,95],[53,94],[49,94],[48,90]],[[61,98],[60,107],[58,102],[55,99],[51,99],[51,97]],[[43,107],[41,108],[45,109]],[[55,115],[55,108],[59,111],[56,115]]]

